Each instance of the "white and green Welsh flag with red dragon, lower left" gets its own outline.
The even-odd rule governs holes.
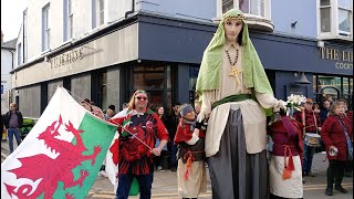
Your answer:
[[[1,198],[84,198],[116,129],[58,87],[30,134],[1,164]]]

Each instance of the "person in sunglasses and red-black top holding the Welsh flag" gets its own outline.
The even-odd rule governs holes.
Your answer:
[[[117,150],[113,155],[119,167],[116,190],[116,198],[119,199],[128,198],[134,178],[139,184],[140,198],[150,198],[154,178],[153,155],[159,156],[168,142],[168,133],[164,123],[147,105],[147,93],[137,90],[127,107],[127,115],[110,119],[122,126],[118,128]],[[160,140],[156,148],[155,138]]]

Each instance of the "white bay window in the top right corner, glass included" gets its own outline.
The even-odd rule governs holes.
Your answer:
[[[319,39],[353,40],[353,1],[317,0]]]

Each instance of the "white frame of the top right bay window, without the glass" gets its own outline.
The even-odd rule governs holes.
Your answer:
[[[353,2],[352,2],[353,3]],[[330,32],[322,32],[321,30],[321,8],[330,8]],[[341,31],[340,30],[340,21],[339,21],[339,10],[350,11],[350,29],[351,32]],[[331,40],[331,39],[340,39],[340,40],[348,40],[353,41],[353,4],[352,10],[348,8],[343,8],[339,6],[337,0],[331,0],[330,6],[321,6],[321,0],[316,0],[316,15],[317,15],[317,39],[319,40]],[[347,34],[347,35],[343,35]]]

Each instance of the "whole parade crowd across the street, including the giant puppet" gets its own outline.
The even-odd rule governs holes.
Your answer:
[[[140,198],[150,198],[154,171],[165,169],[177,172],[181,198],[198,198],[207,189],[207,166],[214,199],[303,198],[303,177],[316,176],[316,148],[330,161],[325,195],[332,196],[333,188],[347,192],[342,187],[344,175],[353,172],[353,112],[347,102],[333,102],[330,95],[319,103],[306,98],[290,114],[287,103],[273,96],[240,10],[223,14],[204,53],[196,91],[192,105],[174,102],[169,114],[163,106],[150,109],[143,90],[135,91],[121,112],[81,101],[93,115],[118,125],[116,198],[128,198],[134,180]],[[9,144],[13,135],[20,144],[22,116],[15,106],[10,108]],[[269,123],[274,113],[278,121]],[[273,142],[270,148],[267,135]],[[167,166],[162,164],[166,157]]]

